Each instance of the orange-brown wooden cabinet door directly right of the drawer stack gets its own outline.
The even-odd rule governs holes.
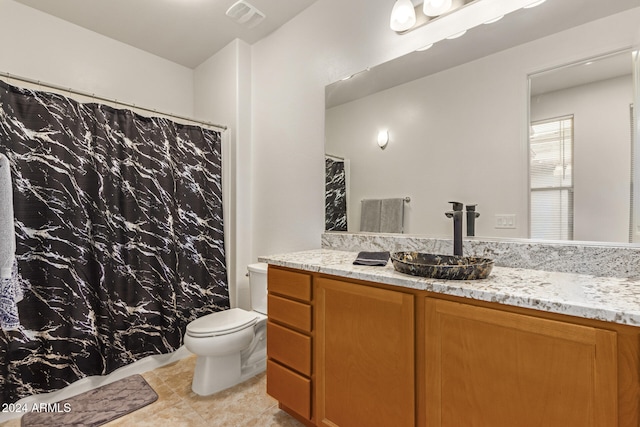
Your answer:
[[[319,278],[316,423],[415,425],[414,297]]]

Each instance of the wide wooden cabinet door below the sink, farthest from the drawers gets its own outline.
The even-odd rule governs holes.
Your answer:
[[[427,425],[617,426],[616,333],[426,299]]]

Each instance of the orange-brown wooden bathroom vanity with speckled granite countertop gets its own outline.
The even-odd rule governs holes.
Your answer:
[[[319,249],[269,265],[267,391],[309,426],[637,426],[640,282],[444,281]]]

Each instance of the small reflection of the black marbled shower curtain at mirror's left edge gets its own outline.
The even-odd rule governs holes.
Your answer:
[[[344,160],[325,157],[325,230],[347,231],[347,176]]]

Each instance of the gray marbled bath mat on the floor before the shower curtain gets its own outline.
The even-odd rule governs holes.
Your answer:
[[[22,427],[100,426],[157,399],[141,375],[132,375],[58,403],[30,407]]]

